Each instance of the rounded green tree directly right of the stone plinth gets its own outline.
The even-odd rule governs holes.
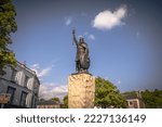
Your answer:
[[[97,77],[95,79],[95,106],[126,107],[126,101],[112,82]]]

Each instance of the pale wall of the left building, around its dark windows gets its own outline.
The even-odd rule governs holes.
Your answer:
[[[12,104],[19,105],[22,91],[24,91],[27,93],[26,107],[36,107],[40,86],[36,73],[21,63],[17,63],[14,69],[17,71],[15,75],[15,81],[12,81],[13,68],[11,66],[6,66],[4,69],[6,74],[0,77],[0,93],[6,93],[8,87],[15,88],[16,90]],[[26,76],[29,77],[27,86],[25,86]]]

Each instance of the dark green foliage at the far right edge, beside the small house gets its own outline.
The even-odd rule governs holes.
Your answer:
[[[162,90],[145,90],[141,97],[147,109],[162,107]]]

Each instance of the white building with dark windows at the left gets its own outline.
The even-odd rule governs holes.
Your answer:
[[[9,93],[11,99],[3,107],[37,107],[40,81],[36,73],[18,62],[4,71],[6,74],[0,76],[0,93]]]

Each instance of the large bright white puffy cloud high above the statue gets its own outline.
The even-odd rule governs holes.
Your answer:
[[[114,26],[123,25],[124,23],[121,20],[126,16],[126,5],[122,5],[113,12],[109,10],[103,11],[95,16],[93,27],[109,30]]]

